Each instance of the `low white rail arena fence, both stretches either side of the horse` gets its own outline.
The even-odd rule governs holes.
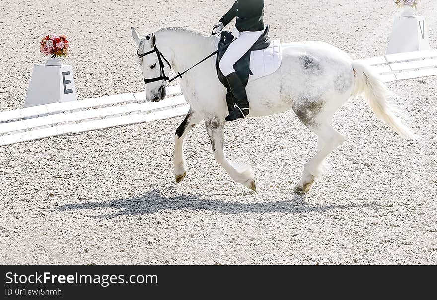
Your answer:
[[[372,66],[384,82],[437,75],[437,49],[357,61]],[[180,86],[168,87],[167,94],[158,103],[144,102],[142,92],[0,112],[0,146],[187,114]]]

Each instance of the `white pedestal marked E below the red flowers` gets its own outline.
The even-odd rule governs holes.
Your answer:
[[[77,100],[72,66],[49,63],[33,66],[24,107]]]

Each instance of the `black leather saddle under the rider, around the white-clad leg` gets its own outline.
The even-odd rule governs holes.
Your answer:
[[[253,75],[252,71],[250,70],[251,52],[257,50],[263,50],[270,46],[271,41],[269,38],[269,31],[270,31],[270,25],[267,25],[266,29],[264,30],[260,38],[255,42],[255,44],[253,44],[253,46],[246,52],[246,54],[243,55],[243,57],[240,58],[233,66],[235,72],[237,73],[238,77],[240,78],[244,86],[246,86],[247,83],[249,82],[249,75]],[[222,31],[220,36],[220,41],[218,42],[218,48],[217,48],[218,53],[216,59],[216,71],[217,71],[218,79],[227,89],[226,103],[229,112],[234,108],[234,98],[229,88],[229,85],[227,83],[227,79],[223,75],[223,73],[221,73],[220,68],[218,66],[221,58],[223,57],[224,53],[226,52],[227,48],[230,45],[230,42],[233,39],[234,36],[232,35],[232,33],[228,31]]]

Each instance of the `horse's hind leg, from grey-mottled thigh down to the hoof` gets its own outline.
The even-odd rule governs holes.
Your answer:
[[[344,142],[343,135],[332,127],[332,117],[326,114],[324,104],[325,102],[320,100],[293,105],[293,110],[300,121],[313,133],[317,134],[317,153],[303,168],[302,177],[294,188],[294,192],[298,194],[309,191],[315,178],[323,172],[325,158]]]

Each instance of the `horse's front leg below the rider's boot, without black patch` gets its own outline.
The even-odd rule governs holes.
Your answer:
[[[215,118],[205,120],[205,126],[211,140],[214,158],[234,181],[241,183],[256,192],[256,177],[253,174],[252,168],[249,166],[233,164],[224,155],[224,123],[224,120]]]

